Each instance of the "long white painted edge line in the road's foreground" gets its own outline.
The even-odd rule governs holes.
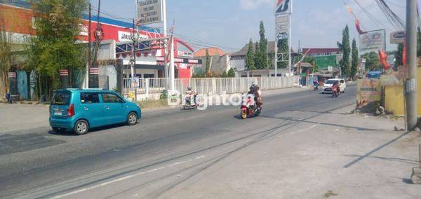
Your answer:
[[[189,163],[189,162],[192,162],[193,160],[199,160],[199,159],[201,159],[201,158],[205,158],[205,157],[206,157],[206,156],[199,156],[199,157],[196,157],[196,158],[194,158],[194,159],[189,159],[189,160],[186,160],[186,161],[182,161],[182,162],[174,163],[174,164],[172,164],[172,165],[169,165],[168,167],[173,167],[173,166],[175,166],[175,165],[181,165],[181,164],[184,164],[184,163]],[[131,179],[131,178],[133,178],[133,177],[137,177],[137,176],[140,176],[140,175],[142,175],[142,174],[147,174],[147,173],[156,172],[156,171],[159,171],[159,170],[163,170],[163,169],[165,169],[165,168],[166,168],[166,167],[158,167],[158,168],[154,168],[153,170],[148,170],[148,171],[146,171],[146,172],[138,172],[138,173],[136,173],[136,174],[131,174],[131,175],[128,175],[128,176],[125,176],[125,177],[120,177],[120,178],[117,178],[117,179],[113,179],[113,180],[111,180],[111,181],[106,181],[106,182],[104,182],[104,183],[97,184],[97,185],[95,185],[95,186],[89,186],[89,187],[86,187],[86,188],[81,188],[81,189],[78,189],[78,190],[76,190],[76,191],[72,191],[72,192],[69,192],[69,193],[62,194],[62,195],[55,195],[55,196],[53,197],[53,199],[56,199],[56,198],[63,198],[63,197],[69,196],[69,195],[74,195],[74,194],[76,194],[76,193],[81,193],[81,192],[84,192],[84,191],[89,191],[89,190],[92,190],[92,189],[94,189],[94,188],[99,188],[99,187],[101,187],[101,186],[106,186],[106,185],[109,185],[109,184],[113,184],[113,183],[116,183],[116,182],[118,182],[118,181],[123,181],[123,180],[125,180],[125,179]]]

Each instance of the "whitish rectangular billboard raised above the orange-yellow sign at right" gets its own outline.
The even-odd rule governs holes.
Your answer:
[[[361,51],[379,50],[386,47],[386,30],[375,30],[360,34],[359,48]]]

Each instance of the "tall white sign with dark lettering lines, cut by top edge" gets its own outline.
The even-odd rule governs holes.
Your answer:
[[[143,25],[162,22],[161,0],[138,0],[138,19]]]

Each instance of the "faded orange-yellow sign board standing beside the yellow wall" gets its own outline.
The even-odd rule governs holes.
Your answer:
[[[382,86],[379,79],[359,79],[356,89],[356,102],[360,108],[365,107],[370,102],[377,102],[382,99]]]

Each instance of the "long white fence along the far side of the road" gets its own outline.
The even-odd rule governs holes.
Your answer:
[[[178,78],[175,79],[175,90],[185,92],[187,86],[199,94],[222,94],[247,92],[253,81],[262,90],[293,87],[298,84],[298,77],[242,77],[242,78]],[[166,90],[170,85],[169,78],[141,78],[135,90],[131,88],[131,79],[124,80],[124,94],[135,91],[136,94],[152,94]]]

